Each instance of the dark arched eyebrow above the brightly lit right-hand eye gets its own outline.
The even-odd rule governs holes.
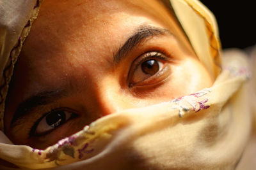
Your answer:
[[[115,53],[113,59],[116,64],[118,64],[122,59],[124,59],[131,50],[141,43],[141,41],[150,38],[152,36],[160,35],[171,35],[172,32],[168,29],[163,29],[160,27],[153,27],[151,25],[141,25],[138,29],[130,36],[124,43],[120,46],[118,51]]]

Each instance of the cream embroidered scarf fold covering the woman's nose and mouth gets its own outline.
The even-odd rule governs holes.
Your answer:
[[[238,58],[237,60],[241,59]],[[243,62],[243,59],[241,62]],[[244,66],[237,67],[237,62],[228,63],[232,63],[234,66],[228,65],[228,69],[218,76],[211,88],[200,90],[189,96],[179,97],[170,102],[125,110],[102,117],[84,127],[82,131],[62,139],[56,145],[45,150],[0,143],[0,148],[4,148],[4,150],[0,150],[0,157],[19,167],[29,169],[61,166],[79,160],[83,160],[83,166],[86,167],[86,164],[97,164],[100,160],[107,164],[107,157],[115,160],[118,159],[117,155],[120,154],[120,150],[123,150],[122,152],[129,150],[129,154],[136,155],[139,153],[136,157],[146,159],[148,163],[154,160],[150,163],[154,167],[158,166],[162,160],[147,158],[147,155],[157,155],[156,152],[160,152],[160,150],[148,147],[147,141],[150,141],[150,143],[154,141],[154,145],[158,141],[159,146],[161,146],[163,141],[167,142],[170,139],[169,148],[162,153],[161,159],[163,160],[173,155],[172,148],[185,147],[186,150],[190,151],[184,151],[184,155],[191,157],[190,154],[193,153],[194,159],[197,158],[194,163],[198,165],[198,168],[214,166],[216,162],[212,159],[224,154],[225,157],[221,159],[227,161],[226,164],[225,161],[218,160],[219,163],[222,162],[222,166],[216,164],[214,168],[227,167],[232,169],[243,152],[250,134],[250,111],[246,111],[246,108],[248,108],[246,96],[243,96],[241,90],[239,90],[249,74]],[[243,104],[236,105],[237,100],[243,102]],[[243,113],[243,116],[241,116],[241,113]],[[239,118],[239,120],[236,118]],[[209,131],[205,130],[205,127]],[[192,134],[187,136],[184,128],[189,129],[189,133]],[[234,131],[235,129],[243,133],[237,134]],[[180,136],[177,136],[180,132],[184,134],[184,141],[177,139],[180,138]],[[161,138],[159,135],[170,135],[173,138],[165,139],[166,137]],[[243,136],[243,138],[236,139],[237,135]],[[188,141],[185,137],[191,138],[191,141]],[[230,159],[230,157],[234,157],[234,153],[232,153],[233,156],[230,155],[229,157],[227,157],[227,153],[221,153],[224,148],[230,150],[233,148],[229,147],[232,146],[229,139],[236,139],[233,146],[236,148],[236,159]],[[198,146],[195,146],[196,143]],[[163,150],[163,147],[159,148]],[[180,153],[175,153],[176,159]],[[15,156],[13,157],[13,155]],[[173,162],[161,162],[161,164],[173,167],[170,164],[177,164],[176,159]],[[156,160],[159,162],[156,163]],[[71,165],[76,167],[76,164]],[[122,166],[116,162],[116,166],[118,165]],[[66,167],[63,166],[63,168]]]

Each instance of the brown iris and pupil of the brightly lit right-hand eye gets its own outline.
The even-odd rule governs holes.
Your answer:
[[[146,60],[141,64],[141,70],[145,74],[154,75],[157,73],[157,71],[159,71],[159,64],[154,59]]]

